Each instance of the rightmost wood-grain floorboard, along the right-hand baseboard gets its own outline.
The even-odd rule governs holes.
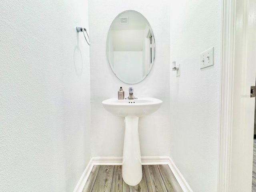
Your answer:
[[[168,165],[158,165],[158,169],[168,192],[183,192]]]

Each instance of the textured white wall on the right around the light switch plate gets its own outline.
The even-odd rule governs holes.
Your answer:
[[[220,90],[221,0],[170,4],[170,157],[194,192],[216,192]],[[200,53],[214,46],[214,66],[200,69]]]

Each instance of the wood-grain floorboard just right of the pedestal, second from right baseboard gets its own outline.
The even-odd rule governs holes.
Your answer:
[[[167,192],[162,176],[157,166],[144,165],[148,191],[150,192]]]

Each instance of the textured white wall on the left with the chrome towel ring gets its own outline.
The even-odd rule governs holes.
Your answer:
[[[73,191],[90,146],[82,0],[0,4],[0,191]]]

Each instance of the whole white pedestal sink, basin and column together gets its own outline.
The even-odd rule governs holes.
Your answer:
[[[114,98],[104,100],[102,104],[108,112],[125,117],[122,177],[128,185],[135,186],[142,179],[138,120],[139,117],[158,110],[162,100],[155,98],[118,100]]]

